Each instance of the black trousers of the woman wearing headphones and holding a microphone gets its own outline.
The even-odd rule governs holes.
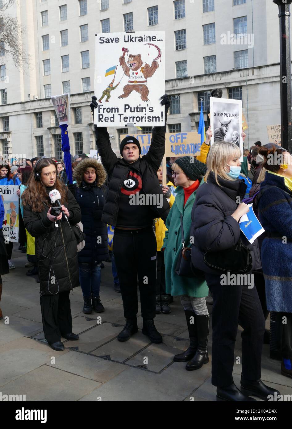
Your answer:
[[[42,326],[45,339],[52,344],[61,340],[63,334],[72,332],[72,315],[69,299],[70,291],[57,295],[42,295]]]

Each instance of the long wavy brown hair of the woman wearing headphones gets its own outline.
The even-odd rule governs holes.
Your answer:
[[[24,190],[21,196],[23,205],[30,205],[32,210],[36,212],[43,211],[44,203],[51,207],[51,200],[44,184],[42,183],[42,180],[37,181],[34,178],[35,173],[39,173],[39,176],[41,177],[42,169],[44,167],[48,167],[49,165],[54,165],[56,168],[56,181],[54,187],[60,192],[62,203],[64,204],[68,201],[67,188],[64,184],[62,184],[60,179],[57,178],[57,164],[51,158],[42,158],[35,164],[33,171],[30,174],[30,178],[27,181],[27,188]]]

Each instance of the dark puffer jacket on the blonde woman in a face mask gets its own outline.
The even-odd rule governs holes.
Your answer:
[[[251,245],[241,233],[238,222],[231,216],[238,206],[236,198],[244,197],[247,185],[240,179],[233,181],[219,178],[219,183],[221,187],[211,173],[207,183],[197,190],[190,230],[190,235],[194,237],[192,263],[206,273],[218,274],[204,263],[205,252],[229,249],[238,243],[241,236],[244,245],[252,251],[253,270],[261,269],[257,240]]]

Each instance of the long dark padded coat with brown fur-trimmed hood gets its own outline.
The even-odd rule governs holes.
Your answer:
[[[83,175],[87,168],[96,170],[96,181],[87,184]],[[74,169],[77,185],[69,185],[81,209],[85,247],[78,253],[79,263],[99,263],[108,259],[108,227],[101,221],[105,193],[106,172],[93,158],[85,158]]]

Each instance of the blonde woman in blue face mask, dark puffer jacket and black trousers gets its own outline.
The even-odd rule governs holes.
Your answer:
[[[238,202],[246,191],[246,184],[238,178],[240,157],[241,151],[233,143],[218,141],[211,146],[206,182],[199,187],[192,210],[192,262],[205,272],[214,299],[212,384],[217,386],[217,401],[255,401],[247,395],[267,401],[268,395],[274,396],[277,391],[260,380],[265,319],[256,288],[248,288],[247,282],[242,281],[234,285],[227,280],[228,273],[210,269],[203,260],[207,251],[216,252],[213,255],[216,257],[221,251],[233,248],[240,240],[238,221],[249,211],[245,203]],[[241,241],[244,241],[242,237]],[[253,269],[259,269],[258,247],[247,242],[244,244],[252,251]],[[236,269],[237,266],[234,266],[235,272]],[[244,329],[241,334],[241,391],[232,378],[238,323]]]

